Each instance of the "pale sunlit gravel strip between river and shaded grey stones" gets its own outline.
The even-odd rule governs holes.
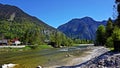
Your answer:
[[[59,65],[54,65],[54,66],[49,66],[44,68],[68,68],[71,66],[77,66],[79,64],[89,61],[90,59],[98,57],[101,54],[104,54],[109,51],[109,49],[105,47],[89,47],[88,49],[89,49],[88,51],[86,51],[84,54],[82,54],[79,57],[71,55],[68,59],[65,59],[65,63],[61,66],[59,64]]]

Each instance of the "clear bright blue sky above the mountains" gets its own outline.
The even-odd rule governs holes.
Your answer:
[[[57,28],[74,18],[92,17],[96,21],[113,16],[114,0],[0,0],[14,5]]]

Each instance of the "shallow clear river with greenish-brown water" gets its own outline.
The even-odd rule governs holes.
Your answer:
[[[67,48],[52,48],[44,50],[5,52],[0,53],[0,65],[14,63],[22,68],[35,68],[40,65],[43,67],[73,65],[70,60],[84,57],[91,49],[89,45],[78,45]],[[19,68],[19,67],[17,67]]]

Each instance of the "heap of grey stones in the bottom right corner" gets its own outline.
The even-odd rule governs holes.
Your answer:
[[[106,53],[105,55],[95,57],[80,68],[120,68],[120,53]]]

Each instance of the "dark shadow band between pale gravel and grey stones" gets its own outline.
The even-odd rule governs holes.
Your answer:
[[[87,65],[87,64],[90,64],[91,62],[97,64],[96,61],[98,61],[98,60],[100,60],[100,59],[103,59],[103,56],[104,56],[104,55],[112,56],[112,55],[118,54],[118,53],[120,53],[120,52],[108,51],[108,52],[106,52],[106,53],[104,53],[104,54],[102,54],[102,55],[100,55],[100,56],[98,56],[98,57],[92,58],[92,59],[89,60],[89,61],[86,61],[86,62],[84,62],[84,63],[78,64],[78,65],[75,65],[75,66],[61,66],[61,67],[56,67],[56,68],[80,68],[82,65]],[[86,59],[87,59],[87,58],[86,58]]]

